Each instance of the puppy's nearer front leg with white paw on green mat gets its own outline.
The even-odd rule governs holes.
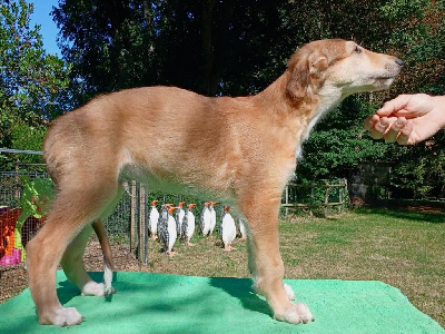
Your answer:
[[[269,191],[251,194],[240,207],[248,219],[249,268],[253,272],[256,291],[267,298],[274,317],[291,324],[314,321],[309,308],[293,304],[283,284],[284,264],[278,245],[278,212],[280,194]]]

